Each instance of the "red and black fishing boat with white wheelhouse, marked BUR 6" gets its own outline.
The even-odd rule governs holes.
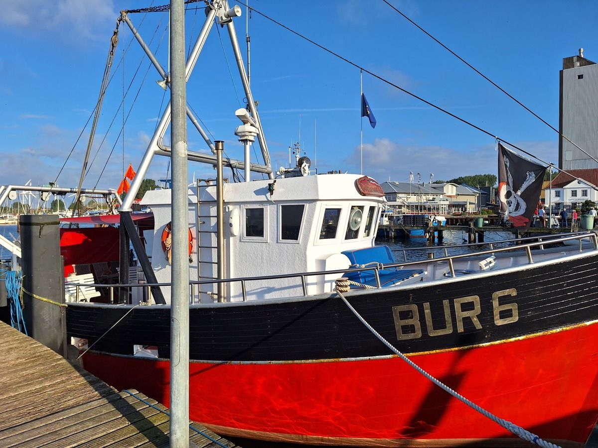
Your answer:
[[[240,54],[239,14],[210,2],[198,42],[216,20]],[[239,72],[246,79],[242,63]],[[246,148],[258,141],[264,164],[249,151],[222,162],[222,142],[206,140],[216,157],[190,152],[219,173],[223,163],[245,168],[247,181],[219,176],[188,191],[191,419],[222,435],[318,445],[528,446],[517,427],[583,446],[598,418],[596,234],[397,262],[374,241],[386,209],[376,180],[313,175],[305,157],[274,179],[243,84],[248,108],[236,113],[236,135]],[[60,274],[66,335],[85,369],[169,406],[171,191],[148,191],[141,205],[151,213],[130,213],[152,157],[170,154],[164,116],[120,217],[69,218],[106,226],[71,237],[63,229]],[[249,180],[249,171],[269,179]],[[36,226],[36,238],[52,225]],[[120,246],[118,260],[107,241]],[[100,250],[118,283],[83,283]]]

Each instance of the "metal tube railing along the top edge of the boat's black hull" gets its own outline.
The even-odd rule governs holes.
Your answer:
[[[593,250],[598,250],[598,235],[594,232],[583,232],[578,234],[570,234],[568,236],[560,236],[557,238],[528,238],[533,241],[529,241],[527,243],[518,244],[516,246],[508,246],[508,247],[493,247],[487,250],[477,251],[475,253],[463,253],[463,254],[455,254],[451,256],[439,257],[432,260],[416,260],[410,262],[400,262],[400,263],[377,263],[375,265],[368,265],[368,266],[356,266],[354,268],[349,269],[335,269],[332,271],[313,271],[313,272],[299,272],[295,274],[277,274],[277,275],[260,275],[258,277],[238,277],[238,278],[225,278],[222,280],[212,279],[212,280],[192,280],[189,282],[190,286],[190,303],[196,303],[194,297],[196,293],[199,294],[208,294],[212,297],[215,297],[216,294],[211,291],[202,291],[202,285],[218,285],[218,284],[232,284],[232,283],[239,283],[242,290],[242,300],[247,300],[247,284],[252,281],[264,281],[264,280],[279,280],[279,279],[289,279],[289,278],[298,278],[301,283],[301,289],[303,290],[303,296],[307,296],[307,278],[309,277],[317,277],[322,275],[332,275],[332,274],[339,274],[341,277],[344,274],[349,272],[365,272],[371,271],[374,273],[374,278],[376,279],[376,286],[377,288],[381,288],[380,284],[380,271],[383,269],[393,269],[393,268],[405,268],[407,266],[416,266],[422,265],[422,263],[447,263],[450,276],[455,277],[456,271],[454,268],[454,264],[456,260],[467,259],[471,257],[476,257],[482,259],[484,256],[493,256],[497,253],[508,253],[509,251],[524,251],[526,253],[527,263],[533,263],[533,255],[532,249],[533,248],[544,248],[545,245],[548,244],[555,244],[555,243],[563,243],[565,241],[579,241],[579,252],[583,251],[583,241],[590,240],[592,243]],[[513,240],[513,241],[522,241],[521,239]],[[468,245],[464,245],[468,246]],[[172,286],[171,283],[135,283],[135,284],[81,284],[78,283],[71,283],[69,285],[72,286],[94,286],[96,288],[103,288],[108,289],[109,291],[109,300],[110,303],[114,303],[114,297],[118,296],[115,294],[115,291],[120,291],[121,289],[128,289],[128,288],[145,288],[147,290],[147,297],[150,297],[151,287],[161,287],[161,286]],[[80,301],[80,296],[78,295],[78,288],[77,288],[77,295],[75,300],[77,302]]]

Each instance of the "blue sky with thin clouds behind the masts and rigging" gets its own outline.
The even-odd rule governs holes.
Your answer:
[[[230,1],[230,0],[229,0]],[[389,0],[545,121],[559,127],[559,70],[564,57],[598,61],[598,2]],[[76,186],[120,10],[164,1],[0,0],[0,185]],[[230,5],[240,4],[230,1]],[[367,174],[379,182],[422,182],[496,174],[492,136],[546,163],[558,164],[558,134],[409,23],[382,0],[249,0],[249,5],[354,65],[252,13],[235,19],[246,56],[251,36],[251,87],[273,168],[289,165],[300,142],[312,170]],[[188,5],[187,42],[205,14]],[[130,13],[163,67],[168,65],[168,14]],[[10,44],[9,44],[10,42]],[[187,43],[187,45],[190,45]],[[376,128],[361,117],[358,67],[472,122],[475,130],[364,72],[363,91]],[[129,27],[121,23],[84,186],[117,188],[137,168],[169,94],[155,81]],[[124,102],[123,102],[124,96]],[[245,95],[225,28],[212,27],[187,84],[187,100],[225,154],[242,159],[234,111]],[[123,109],[119,109],[121,102]],[[112,122],[112,125],[111,125]],[[121,129],[124,131],[121,133]],[[167,131],[168,140],[170,130]],[[78,139],[78,137],[81,137]],[[361,145],[361,136],[363,144]],[[188,124],[190,151],[208,152]],[[255,145],[252,161],[261,163]],[[230,170],[225,171],[230,176]],[[146,177],[169,176],[169,159],[154,157]],[[210,165],[189,164],[189,182],[214,177]],[[252,179],[261,179],[252,174]],[[417,177],[416,177],[417,179]]]

